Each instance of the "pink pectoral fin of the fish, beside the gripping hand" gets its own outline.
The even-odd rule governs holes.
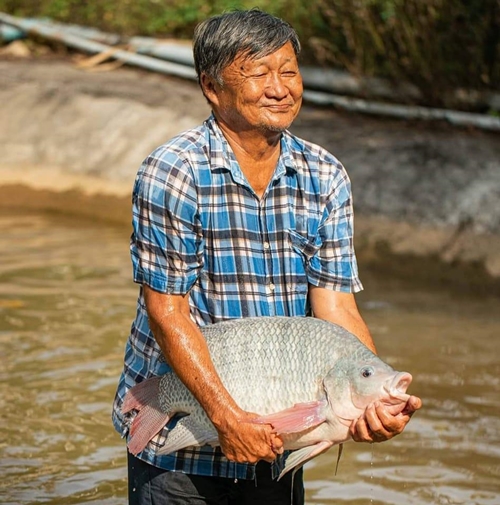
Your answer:
[[[325,421],[326,400],[296,403],[289,409],[259,416],[252,420],[258,424],[270,424],[278,434],[298,433]]]

